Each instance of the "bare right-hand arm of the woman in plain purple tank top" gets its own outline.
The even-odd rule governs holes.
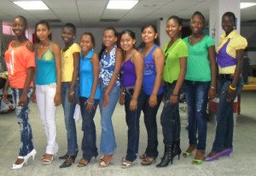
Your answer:
[[[136,71],[136,82],[134,86],[134,92],[132,95],[130,110],[135,111],[137,109],[137,97],[140,94],[143,85],[143,55],[136,52],[131,58],[133,64],[135,65]]]

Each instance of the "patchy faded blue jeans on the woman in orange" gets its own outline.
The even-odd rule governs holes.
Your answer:
[[[26,105],[18,105],[20,101],[20,95],[22,93],[22,88],[13,88],[13,96],[15,100],[15,112],[17,116],[17,121],[20,126],[20,152],[19,156],[26,156],[30,151],[34,149],[32,128],[28,119],[29,102],[31,99],[32,88],[27,90]]]

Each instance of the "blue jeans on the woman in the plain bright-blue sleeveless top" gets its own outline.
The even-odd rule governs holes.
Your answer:
[[[86,106],[84,103],[87,98],[80,97],[80,108],[83,117],[82,130],[84,131],[84,136],[82,140],[82,150],[83,158],[90,161],[90,158],[98,155],[98,149],[96,147],[96,128],[93,118],[96,114],[97,105],[99,104],[99,99],[94,99],[94,110],[86,111]]]

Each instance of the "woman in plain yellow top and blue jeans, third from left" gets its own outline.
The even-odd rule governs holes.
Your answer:
[[[60,167],[70,167],[79,151],[76,124],[73,119],[76,102],[79,99],[80,60],[79,44],[74,43],[75,34],[76,28],[71,23],[67,23],[62,28],[61,37],[65,43],[65,48],[61,50],[61,101],[67,129],[67,154],[59,157],[66,159]]]

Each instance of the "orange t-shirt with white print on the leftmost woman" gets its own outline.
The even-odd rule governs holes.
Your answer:
[[[20,47],[12,47],[12,41],[5,52],[4,57],[9,73],[9,84],[11,88],[24,88],[26,74],[29,67],[35,67],[34,52],[26,48],[27,41]],[[32,87],[32,82],[31,85]]]

